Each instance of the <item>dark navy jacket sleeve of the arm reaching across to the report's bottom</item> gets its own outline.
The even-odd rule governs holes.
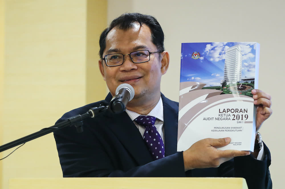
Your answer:
[[[64,177],[185,177],[182,152],[140,165],[120,145],[102,144],[101,134],[67,127],[54,137]]]

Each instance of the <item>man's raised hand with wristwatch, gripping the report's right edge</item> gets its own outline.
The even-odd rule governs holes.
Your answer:
[[[257,105],[256,131],[258,131],[262,123],[272,114],[271,96],[259,89],[253,89],[251,93],[254,99],[253,104]]]

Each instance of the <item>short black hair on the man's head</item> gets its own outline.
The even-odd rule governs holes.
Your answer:
[[[160,24],[153,16],[140,13],[125,13],[113,20],[110,26],[101,33],[99,39],[99,55],[101,58],[103,56],[103,51],[106,48],[106,37],[110,30],[112,30],[114,27],[118,27],[121,30],[127,30],[133,27],[132,24],[134,22],[139,22],[139,24],[141,25],[145,24],[146,26],[148,26],[151,31],[152,43],[157,47],[157,50],[159,52],[164,51],[164,33]]]

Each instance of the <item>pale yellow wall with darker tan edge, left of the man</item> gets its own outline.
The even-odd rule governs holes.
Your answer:
[[[106,7],[102,0],[5,1],[5,69],[0,64],[4,144],[52,126],[65,112],[105,97],[106,87],[95,70]],[[14,177],[62,177],[52,133],[27,142],[1,162],[3,188]]]

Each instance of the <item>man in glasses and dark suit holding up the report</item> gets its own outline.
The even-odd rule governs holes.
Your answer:
[[[139,13],[121,15],[102,32],[99,69],[110,93],[105,100],[64,114],[58,122],[86,113],[91,107],[108,105],[122,83],[132,85],[135,96],[125,112],[105,111],[85,119],[82,133],[73,128],[54,132],[64,177],[244,177],[249,188],[272,188],[270,152],[265,145],[263,152],[255,148],[249,155],[216,149],[229,144],[230,138],[207,138],[176,152],[178,103],[160,93],[161,76],[169,65],[163,41],[157,20]],[[258,130],[272,114],[271,97],[260,90],[252,93],[258,105]],[[151,134],[146,129],[149,127],[137,123],[141,115],[154,119],[149,127],[155,127],[154,133],[162,140],[159,152],[152,152],[145,139]],[[164,154],[158,158],[154,153]],[[262,160],[256,159],[258,155]]]

